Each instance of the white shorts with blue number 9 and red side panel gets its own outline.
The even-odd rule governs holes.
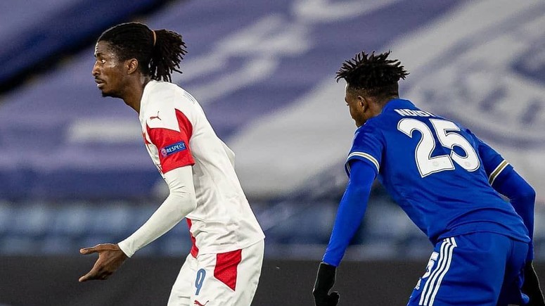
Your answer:
[[[220,254],[191,254],[181,266],[168,306],[250,306],[263,264],[264,241]]]

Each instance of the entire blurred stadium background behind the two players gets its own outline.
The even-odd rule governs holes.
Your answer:
[[[184,36],[174,82],[205,108],[267,235],[255,305],[312,305],[354,124],[333,77],[392,50],[402,97],[458,120],[537,190],[545,263],[545,2],[435,0],[8,0],[0,4],[0,305],[165,305],[188,253],[185,222],[113,279],[79,284],[94,257],[166,196],[139,121],[101,98],[94,42],[141,21]],[[340,305],[404,305],[432,246],[373,189],[340,269]],[[343,274],[344,273],[344,274]],[[364,288],[362,288],[364,287]]]

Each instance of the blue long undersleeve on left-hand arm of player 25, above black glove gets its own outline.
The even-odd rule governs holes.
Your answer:
[[[371,185],[376,177],[376,169],[368,162],[352,160],[350,167],[350,180],[340,200],[335,225],[322,260],[335,267],[340,264],[348,244],[364,218]]]

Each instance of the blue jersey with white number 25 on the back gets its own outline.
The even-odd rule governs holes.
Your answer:
[[[488,231],[529,242],[513,206],[493,188],[511,165],[461,125],[395,99],[359,127],[348,155],[370,163],[409,218],[437,243]]]

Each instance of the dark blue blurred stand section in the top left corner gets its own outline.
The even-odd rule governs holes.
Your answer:
[[[3,1],[0,4],[0,84],[59,56],[119,20],[165,0]]]

